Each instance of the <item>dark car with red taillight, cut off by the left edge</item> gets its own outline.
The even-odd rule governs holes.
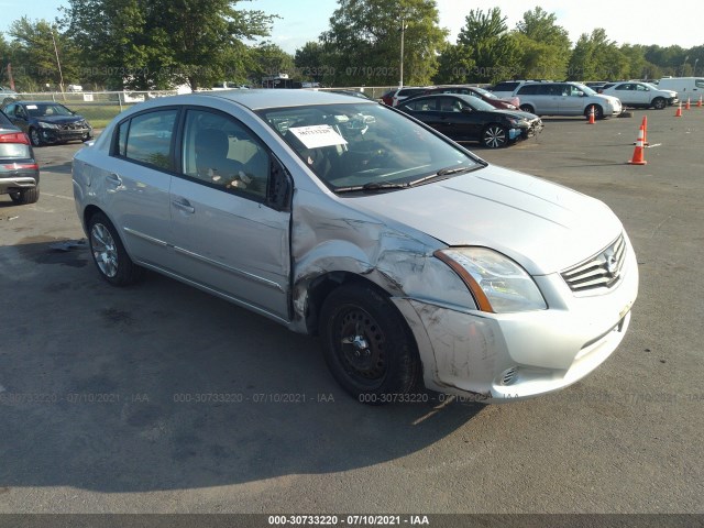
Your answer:
[[[0,195],[16,205],[40,199],[40,166],[30,139],[0,110]]]

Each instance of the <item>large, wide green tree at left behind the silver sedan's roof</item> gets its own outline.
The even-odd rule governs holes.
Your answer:
[[[63,24],[86,73],[112,87],[193,89],[244,64],[242,40],[266,36],[273,20],[235,9],[240,0],[68,0]],[[237,54],[240,54],[238,56]]]

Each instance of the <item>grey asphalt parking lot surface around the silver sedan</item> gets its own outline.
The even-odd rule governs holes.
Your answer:
[[[0,197],[0,513],[704,513],[704,108],[634,113],[469,145],[605,201],[640,270],[602,367],[494,406],[364,406],[314,339],[155,274],[108,286],[81,145],[37,148],[40,201]]]

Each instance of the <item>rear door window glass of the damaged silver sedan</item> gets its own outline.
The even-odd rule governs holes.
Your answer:
[[[116,154],[173,170],[172,138],[177,114],[176,109],[158,110],[120,123]]]

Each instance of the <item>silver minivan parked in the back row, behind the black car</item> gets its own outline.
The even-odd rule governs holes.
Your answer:
[[[520,109],[538,116],[584,116],[594,110],[595,119],[618,116],[620,101],[612,96],[597,94],[579,82],[525,82],[516,89]]]

